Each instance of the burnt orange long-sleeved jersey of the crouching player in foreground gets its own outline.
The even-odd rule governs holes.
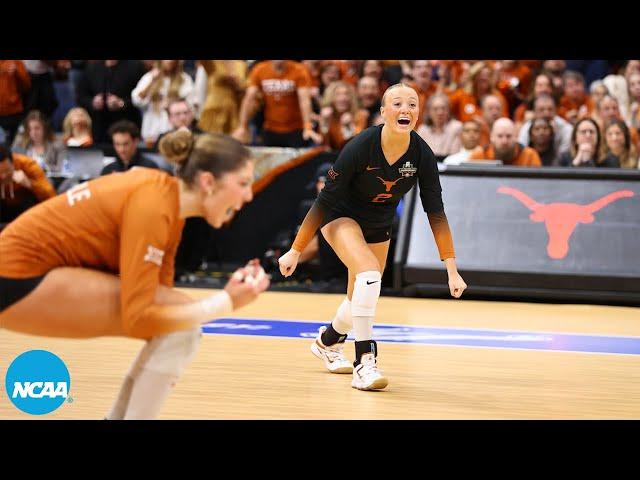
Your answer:
[[[179,207],[178,180],[160,170],[132,168],[81,183],[0,233],[0,276],[35,277],[62,266],[119,273],[124,330],[146,338],[158,285],[173,286],[184,226]]]

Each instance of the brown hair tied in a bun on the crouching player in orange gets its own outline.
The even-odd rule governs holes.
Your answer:
[[[167,133],[158,149],[178,165],[176,175],[188,185],[193,185],[200,171],[221,177],[242,168],[252,158],[251,151],[234,138],[218,133],[196,136],[186,129]]]

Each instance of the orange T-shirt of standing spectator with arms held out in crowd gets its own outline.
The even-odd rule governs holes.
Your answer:
[[[302,130],[298,89],[311,86],[311,77],[304,65],[286,61],[280,73],[271,62],[262,62],[251,71],[249,84],[258,87],[264,97],[265,130],[276,133]]]

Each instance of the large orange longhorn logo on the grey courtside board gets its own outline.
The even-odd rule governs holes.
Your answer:
[[[529,218],[534,222],[544,222],[549,233],[547,253],[554,260],[559,260],[569,253],[569,239],[578,223],[592,223],[593,214],[621,198],[633,197],[631,190],[618,190],[605,195],[589,205],[577,203],[538,203],[527,194],[511,187],[500,187],[498,193],[511,195],[520,200],[533,213]]]

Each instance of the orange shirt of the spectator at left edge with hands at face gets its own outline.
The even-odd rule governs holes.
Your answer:
[[[35,195],[39,202],[43,202],[48,198],[54,197],[56,191],[49,183],[44,170],[40,168],[38,162],[33,158],[19,153],[12,153],[13,167],[16,170],[22,170],[25,176],[31,181],[31,188],[24,187],[19,183],[12,182],[10,184],[0,185],[0,203],[7,206],[20,205],[31,194]],[[0,207],[2,208],[2,207]]]

